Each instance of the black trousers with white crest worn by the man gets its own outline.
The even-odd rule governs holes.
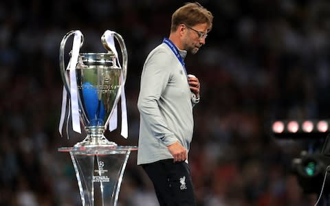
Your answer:
[[[189,165],[164,159],[154,163],[143,164],[155,187],[160,206],[195,206],[195,194],[192,187]]]

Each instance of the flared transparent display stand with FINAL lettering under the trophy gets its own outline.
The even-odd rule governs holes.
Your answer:
[[[69,152],[83,206],[116,206],[122,177],[132,150],[136,146],[65,147]]]

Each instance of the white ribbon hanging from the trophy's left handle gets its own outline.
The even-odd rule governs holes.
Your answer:
[[[72,128],[77,133],[81,133],[80,128],[80,116],[79,116],[79,106],[78,106],[78,92],[77,92],[77,82],[76,82],[76,65],[78,62],[78,55],[80,49],[80,41],[83,34],[80,31],[74,32],[74,42],[72,45],[72,57],[69,61],[68,68],[69,69],[69,77],[70,77],[70,96],[71,96],[71,111],[72,111]],[[65,118],[65,110],[67,106],[67,91],[65,87],[63,87],[63,95],[62,95],[62,109],[61,109],[61,118],[60,125],[58,126],[58,130],[62,135],[62,129]]]

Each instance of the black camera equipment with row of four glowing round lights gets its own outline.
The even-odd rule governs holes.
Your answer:
[[[330,194],[329,120],[281,120],[272,122],[272,136],[308,143],[292,160],[292,172],[306,194]]]

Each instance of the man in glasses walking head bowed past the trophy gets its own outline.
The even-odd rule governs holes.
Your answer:
[[[159,204],[196,205],[188,167],[192,107],[199,102],[198,78],[187,75],[184,58],[205,44],[213,16],[199,3],[173,13],[169,38],[148,55],[137,108],[140,137],[137,164],[153,182]]]

